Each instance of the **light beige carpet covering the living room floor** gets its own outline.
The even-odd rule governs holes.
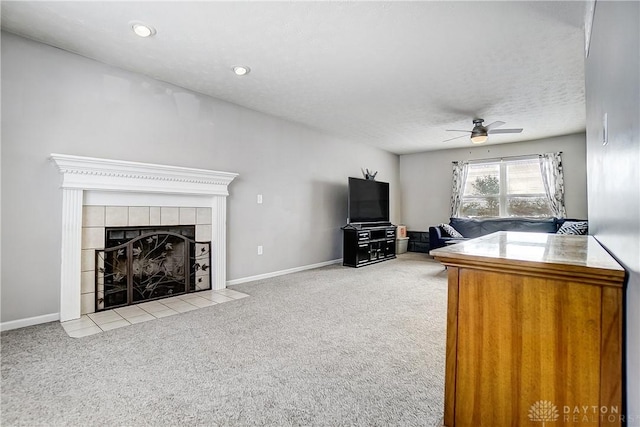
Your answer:
[[[234,286],[248,298],[84,338],[2,333],[3,426],[434,426],[446,272],[424,254]]]

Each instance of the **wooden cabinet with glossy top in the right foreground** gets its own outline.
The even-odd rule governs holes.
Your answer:
[[[444,424],[619,426],[624,270],[591,236],[498,232],[448,269]]]

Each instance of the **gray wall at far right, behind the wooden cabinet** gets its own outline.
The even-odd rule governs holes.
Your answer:
[[[640,425],[640,4],[596,4],[586,60],[589,228],[624,265],[627,415]],[[602,144],[607,113],[609,143]]]

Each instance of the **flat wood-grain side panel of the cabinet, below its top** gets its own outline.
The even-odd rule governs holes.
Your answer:
[[[461,268],[457,317],[456,426],[594,425],[563,412],[599,404],[600,287]]]

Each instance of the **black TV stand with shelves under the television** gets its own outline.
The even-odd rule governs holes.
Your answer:
[[[351,223],[342,227],[343,262],[362,267],[396,257],[396,226],[391,223]]]

